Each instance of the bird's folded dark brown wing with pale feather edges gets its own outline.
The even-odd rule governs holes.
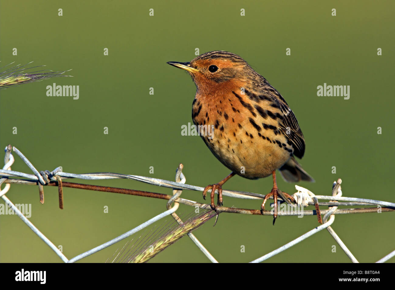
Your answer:
[[[292,143],[294,149],[293,155],[302,158],[305,153],[305,138],[295,115],[280,93],[265,78],[261,77],[260,82],[259,93],[262,97],[271,99],[274,104],[272,106],[277,107],[282,112],[282,118],[277,119],[278,126],[280,131],[288,136],[288,139]]]

